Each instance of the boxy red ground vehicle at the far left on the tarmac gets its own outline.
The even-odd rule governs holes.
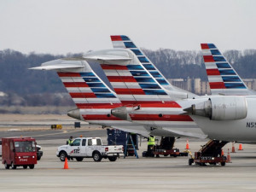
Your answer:
[[[5,169],[16,169],[29,166],[33,169],[37,164],[36,140],[32,137],[8,137],[2,138],[2,161]]]

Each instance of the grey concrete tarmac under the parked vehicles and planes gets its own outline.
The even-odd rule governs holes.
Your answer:
[[[69,169],[56,157],[56,148],[68,135],[79,137],[102,137],[107,143],[106,131],[102,129],[77,129],[62,131],[4,131],[2,137],[36,137],[43,147],[44,155],[33,170],[5,170],[0,166],[0,191],[255,191],[256,146],[243,144],[243,150],[230,153],[232,163],[226,166],[189,166],[189,157],[144,158],[147,148],[143,139],[139,146],[139,159],[119,158],[115,162],[103,159],[94,162],[91,158],[82,162],[69,160]],[[182,151],[189,139],[189,148],[194,154],[207,140],[195,138],[177,139],[176,148]],[[231,143],[224,147],[227,155]]]

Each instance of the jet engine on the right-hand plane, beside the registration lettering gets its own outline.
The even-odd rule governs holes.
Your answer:
[[[207,102],[194,104],[192,114],[212,120],[238,120],[247,117],[245,96],[212,96]]]

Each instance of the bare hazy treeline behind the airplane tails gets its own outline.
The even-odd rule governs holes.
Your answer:
[[[207,80],[200,51],[177,51],[173,49],[143,49],[148,58],[167,79],[201,78]],[[53,71],[28,70],[41,63],[63,57],[80,56],[81,54],[50,55],[5,49],[0,51],[0,91],[7,96],[0,96],[2,105],[44,106],[73,105],[67,90]],[[229,50],[224,53],[242,78],[256,78],[256,50]],[[93,65],[100,76],[99,66]],[[104,77],[106,79],[106,77]],[[60,93],[66,93],[60,94]]]

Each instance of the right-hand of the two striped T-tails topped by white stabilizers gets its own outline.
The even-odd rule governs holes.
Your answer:
[[[101,64],[113,90],[125,105],[173,101],[168,90],[154,79],[143,66],[142,60],[137,59],[130,49],[93,51],[84,55],[84,58]]]

